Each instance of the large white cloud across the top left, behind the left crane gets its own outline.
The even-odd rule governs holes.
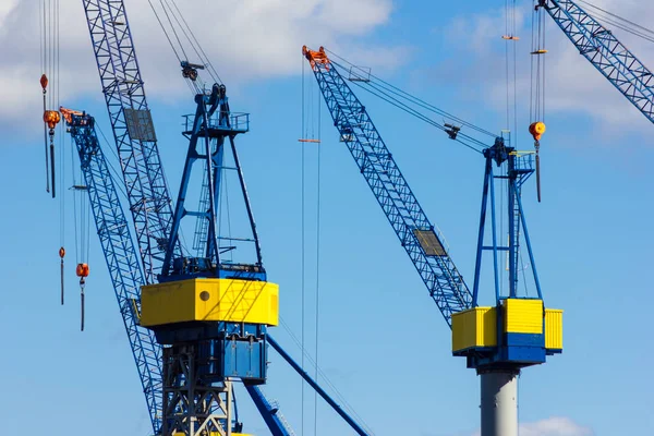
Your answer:
[[[40,118],[39,2],[0,1],[3,126]],[[179,62],[149,5],[136,0],[125,3],[147,94],[169,101],[185,95]],[[99,100],[102,97],[82,2],[60,4],[60,101],[80,96]],[[232,89],[251,81],[299,74],[304,44],[316,48],[324,45],[344,56],[355,53],[371,65],[385,68],[401,63],[407,52],[402,47],[352,44],[355,37],[389,20],[391,0],[198,0],[178,4],[186,21],[195,24],[195,36]],[[375,52],[384,56],[371,55]]]

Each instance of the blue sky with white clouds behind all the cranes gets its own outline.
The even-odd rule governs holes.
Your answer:
[[[62,104],[86,109],[109,132],[83,10],[65,4]],[[81,2],[80,2],[81,3]],[[193,102],[145,1],[126,2],[172,192],[185,156],[180,116]],[[216,3],[216,4],[215,4]],[[252,113],[239,141],[269,279],[281,316],[301,331],[302,44],[332,48],[377,75],[491,131],[505,128],[504,2],[267,0],[206,2],[220,25],[198,31],[228,85],[231,108]],[[617,1],[597,2],[618,10]],[[640,23],[654,7],[620,2]],[[98,242],[92,238],[87,329],[78,331],[73,207],[66,195],[68,303],[59,305],[59,202],[45,193],[37,2],[0,8],[0,187],[3,197],[4,385],[0,416],[9,433],[145,435],[148,419]],[[519,2],[530,20],[529,2]],[[197,7],[187,16],[197,19]],[[186,11],[184,11],[186,12]],[[519,50],[519,141],[530,144],[529,28]],[[616,32],[645,64],[654,50]],[[652,126],[548,28],[543,203],[525,208],[546,304],[565,312],[565,352],[520,380],[523,436],[654,433],[650,312],[654,303],[650,205]],[[315,88],[314,88],[315,92]],[[441,132],[359,93],[427,216],[445,232],[471,281],[483,161]],[[399,245],[323,108],[320,154],[319,365],[376,435],[469,436],[479,427],[479,380],[450,355],[449,330]],[[60,145],[60,144],[59,144]],[[71,183],[70,142],[65,169]],[[305,346],[315,347],[315,186],[317,153],[306,146]],[[64,192],[64,190],[60,190]],[[491,292],[491,288],[486,288]],[[275,336],[300,356],[287,331]],[[272,354],[272,353],[271,353]],[[272,354],[266,392],[301,435],[301,382]],[[244,391],[249,433],[265,435]],[[304,434],[313,435],[305,390]],[[350,434],[318,403],[318,434]],[[40,426],[40,425],[38,425]]]

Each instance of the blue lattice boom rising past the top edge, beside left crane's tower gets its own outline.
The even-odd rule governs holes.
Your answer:
[[[171,199],[122,0],[83,0],[147,283],[160,269]],[[175,252],[181,249],[174,244]]]

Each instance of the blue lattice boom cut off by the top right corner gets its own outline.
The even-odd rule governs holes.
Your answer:
[[[654,76],[613,33],[571,0],[540,0],[566,36],[642,114],[654,122]]]

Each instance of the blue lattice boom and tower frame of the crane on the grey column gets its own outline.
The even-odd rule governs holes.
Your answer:
[[[470,313],[469,310],[477,307],[482,255],[484,251],[493,253],[496,310],[494,313],[497,316],[495,318],[496,325],[489,328],[488,331],[493,331],[496,341],[486,343],[483,340],[477,341],[475,339],[468,341],[468,339],[464,339],[463,342],[467,346],[456,346],[459,348],[455,348],[455,337],[469,338],[467,332],[479,332],[480,328],[485,328],[477,326],[476,317],[459,318],[463,319],[463,324],[459,322],[459,327],[452,331],[452,353],[455,355],[467,356],[469,367],[491,372],[505,371],[507,368],[511,372],[519,372],[521,367],[544,363],[547,355],[559,353],[561,350],[558,348],[546,348],[544,335],[546,308],[544,306],[542,306],[542,316],[538,311],[525,315],[534,326],[541,326],[540,331],[537,331],[538,327],[533,331],[528,329],[521,330],[520,327],[509,331],[504,327],[504,320],[508,319],[509,313],[517,314],[517,311],[520,311],[520,308],[513,308],[511,312],[508,312],[509,308],[505,310],[505,301],[507,301],[507,305],[510,304],[508,301],[517,299],[537,300],[541,305],[543,304],[543,294],[541,292],[541,284],[526,229],[526,220],[520,198],[522,184],[534,172],[532,153],[517,152],[513,147],[506,146],[502,137],[496,137],[494,145],[486,146],[482,152],[486,160],[486,166],[476,247],[474,287],[473,293],[470,295],[463,278],[453,266],[455,264],[447,252],[447,247],[443,243],[443,237],[434,231],[434,226],[427,220],[417,199],[409,189],[405,179],[400,173],[391,154],[368,117],[365,107],[339,73],[337,66],[340,65],[327,57],[326,50],[323,47],[318,51],[313,51],[304,46],[302,52],[312,66],[312,71],[334,120],[334,125],[340,134],[341,142],[346,143],[362,175],[382,206],[386,218],[396,231],[398,239],[409,254],[414,267],[420,272],[429,294],[450,328],[453,327],[453,315]],[[452,135],[447,130],[446,133],[448,133],[450,138],[456,138],[456,134]],[[497,165],[497,167],[506,165],[506,172],[494,174],[494,165]],[[496,219],[494,189],[496,180],[507,183],[507,195],[510,198],[506,210],[509,233],[506,246],[499,244],[497,239],[498,222]],[[493,243],[485,245],[484,234],[488,204],[491,205]],[[526,243],[529,263],[532,267],[537,298],[518,295],[521,233]],[[508,254],[508,295],[502,295],[500,292],[499,251],[505,251]],[[443,278],[449,278],[450,280],[439,281]],[[451,278],[456,279],[452,280]],[[444,302],[451,303],[452,301],[456,303],[457,300],[453,300],[452,295],[459,298],[463,290],[465,291],[463,294],[465,298],[460,299],[458,305],[443,304]],[[513,307],[516,306],[513,305]],[[522,307],[526,306],[523,305]],[[526,313],[523,312],[523,314]],[[513,335],[513,332],[517,335]],[[457,341],[457,343],[460,344],[461,341]]]

